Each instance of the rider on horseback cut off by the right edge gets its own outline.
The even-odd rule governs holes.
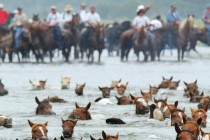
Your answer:
[[[210,3],[207,5],[207,10],[204,12],[202,20],[205,23],[206,30],[208,31],[207,44],[210,45]]]

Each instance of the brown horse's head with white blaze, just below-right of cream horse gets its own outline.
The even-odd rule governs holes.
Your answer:
[[[185,114],[185,108],[181,109],[174,109],[171,110],[171,126],[174,126],[175,123],[179,125],[183,125],[184,121],[183,118],[186,118],[187,115]]]

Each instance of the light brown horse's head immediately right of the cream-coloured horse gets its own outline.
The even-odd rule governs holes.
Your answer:
[[[164,108],[163,108],[163,116],[164,118],[170,118],[171,116],[171,111],[172,110],[176,110],[177,106],[178,106],[178,101],[175,101],[174,104],[167,104]]]

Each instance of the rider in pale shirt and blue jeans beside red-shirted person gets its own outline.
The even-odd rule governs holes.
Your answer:
[[[18,13],[14,17],[15,26],[15,48],[20,47],[20,36],[24,30],[24,24],[26,22],[26,15],[23,13],[22,8],[17,8]]]

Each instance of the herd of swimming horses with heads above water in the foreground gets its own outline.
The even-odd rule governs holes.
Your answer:
[[[33,90],[44,90],[46,80],[40,81],[29,81],[32,85]],[[61,78],[61,89],[68,89],[71,83],[71,78],[63,76]],[[169,126],[173,126],[176,131],[176,140],[210,140],[210,133],[206,133],[202,130],[207,126],[207,111],[210,108],[210,96],[204,96],[204,93],[199,91],[197,80],[191,83],[183,82],[185,89],[183,90],[183,96],[189,98],[189,102],[198,103],[198,109],[190,108],[191,115],[186,114],[185,108],[180,108],[178,106],[179,101],[174,103],[169,103],[165,99],[156,99],[154,96],[158,94],[160,89],[169,89],[176,91],[180,86],[180,80],[174,81],[173,77],[163,80],[157,86],[149,86],[148,91],[140,90],[141,96],[125,96],[126,89],[128,88],[128,82],[122,83],[121,79],[112,81],[110,86],[98,87],[98,91],[102,93],[102,97],[95,100],[97,104],[107,105],[113,104],[109,99],[111,96],[111,91],[116,90],[118,96],[116,97],[117,105],[134,105],[135,114],[146,115],[149,114],[149,119],[154,119],[157,121],[167,121]],[[75,94],[78,96],[84,96],[83,90],[85,88],[84,84],[77,84],[75,87]],[[8,91],[5,89],[4,84],[0,81],[0,95],[7,95]],[[149,105],[149,101],[153,103]],[[66,103],[64,99],[58,96],[48,97],[40,101],[35,97],[35,102],[37,103],[36,115],[56,115],[52,109],[51,103]],[[75,103],[75,109],[73,109],[67,120],[61,119],[63,131],[61,139],[65,140],[73,137],[74,127],[78,121],[92,120],[91,117],[91,102],[89,102],[85,107],[79,106]],[[126,122],[120,118],[108,118],[106,119],[107,124],[114,125],[124,125]],[[35,140],[47,140],[47,124],[46,123],[33,123],[28,120],[28,124],[31,127],[31,138]],[[12,118],[0,115],[0,126],[11,128]],[[55,138],[56,139],[56,138]],[[81,138],[82,139],[82,138]],[[95,140],[90,135],[91,140]],[[102,138],[100,140],[119,140],[120,136],[117,133],[115,136],[109,136],[104,131],[102,132]]]

